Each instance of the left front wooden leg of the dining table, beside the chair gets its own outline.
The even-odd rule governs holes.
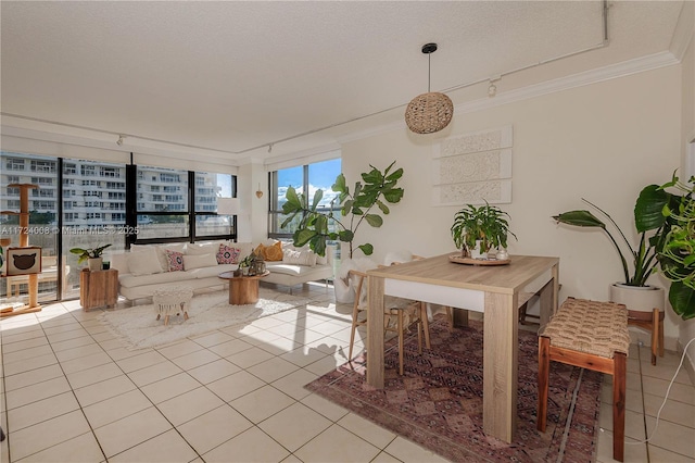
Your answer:
[[[383,389],[383,278],[367,276],[367,384]]]

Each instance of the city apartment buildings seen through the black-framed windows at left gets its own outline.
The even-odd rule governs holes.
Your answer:
[[[28,193],[29,246],[41,247],[47,262],[55,262],[55,259],[46,258],[62,254],[58,266],[63,273],[63,298],[70,297],[71,292],[74,296],[79,287],[79,266],[77,256],[70,253],[71,248],[93,248],[109,242],[112,245],[110,252],[121,252],[125,250],[126,233],[134,229],[138,239],[185,239],[189,236],[188,171],[138,166],[138,214],[137,228],[134,228],[132,225],[126,227],[125,164],[64,159],[62,184],[60,163],[55,158],[1,151],[0,166],[0,211],[20,212],[20,189],[10,185],[38,187]],[[195,172],[193,178],[195,235],[229,234],[230,217],[215,213],[217,198],[231,197],[232,176]],[[59,213],[62,221],[59,221]],[[0,237],[11,240],[9,247],[18,246],[17,215],[0,215]],[[13,296],[8,288],[10,283],[11,278],[0,279],[0,297]],[[56,284],[56,279],[41,283],[40,299],[55,299]],[[26,292],[26,285],[13,286],[13,289],[17,288],[22,293]]]

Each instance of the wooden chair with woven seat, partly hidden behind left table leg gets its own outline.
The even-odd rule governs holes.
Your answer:
[[[366,325],[367,317],[372,315],[369,314],[369,306],[367,305],[367,274],[351,270],[349,277],[356,284],[355,302],[353,303],[352,310],[352,329],[350,331],[350,351],[348,353],[348,358],[352,361],[352,350],[357,326]],[[413,324],[417,325],[418,352],[422,353],[422,313],[425,313],[425,320],[427,320],[427,312],[422,302],[391,297],[384,298],[384,331],[394,331],[399,337],[399,374],[401,375],[403,375],[405,331],[407,331]],[[429,333],[426,334],[426,337],[429,341]]]

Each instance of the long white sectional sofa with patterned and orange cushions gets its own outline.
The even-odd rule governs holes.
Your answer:
[[[218,275],[237,270],[238,264],[218,264],[217,260],[213,259],[220,243],[238,249],[239,260],[249,255],[257,246],[251,242],[230,241],[134,245],[129,252],[111,253],[109,256],[111,267],[118,271],[118,292],[128,300],[135,300],[152,297],[154,290],[163,286],[187,286],[195,290],[225,285],[226,281],[218,278]],[[311,265],[313,259],[309,259],[308,265],[296,264],[294,263],[296,259],[292,259],[299,253],[302,255],[311,253],[308,249],[295,249],[289,242],[283,242],[282,249],[283,261],[266,261],[266,268],[270,274],[262,281],[292,287],[333,278],[333,248],[327,249],[325,258],[316,256],[315,265]],[[169,271],[165,250],[182,254],[182,271]],[[186,262],[190,263],[188,268]]]

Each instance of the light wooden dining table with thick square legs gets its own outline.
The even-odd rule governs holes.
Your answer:
[[[383,308],[383,297],[395,296],[482,312],[483,431],[511,442],[517,420],[520,301],[538,295],[541,325],[547,323],[557,310],[559,259],[513,255],[507,265],[466,265],[452,262],[450,255],[368,271],[368,306]],[[367,384],[376,388],[384,385],[383,348],[383,317],[369,316]]]

